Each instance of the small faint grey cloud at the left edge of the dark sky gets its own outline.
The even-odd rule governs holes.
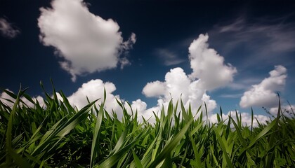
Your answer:
[[[0,18],[0,34],[6,38],[15,38],[20,34],[20,30],[5,18]]]

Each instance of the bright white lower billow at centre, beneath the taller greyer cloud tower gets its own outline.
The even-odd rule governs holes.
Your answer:
[[[206,102],[209,112],[216,108],[216,102],[210,99],[203,87],[199,87],[199,80],[191,80],[179,67],[166,73],[164,82],[147,83],[143,88],[143,94],[147,97],[159,97],[157,106],[147,109],[143,113],[145,118],[153,116],[152,111],[159,112],[162,106],[166,109],[171,98],[173,98],[173,104],[182,99],[186,108],[191,103],[193,113],[196,113],[199,106],[204,105],[204,102]]]

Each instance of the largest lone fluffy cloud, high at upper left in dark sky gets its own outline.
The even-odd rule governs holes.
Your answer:
[[[77,75],[130,64],[123,52],[136,43],[136,34],[123,41],[119,25],[89,12],[83,0],[53,0],[52,8],[40,8],[40,40],[63,57],[60,66],[76,80]]]

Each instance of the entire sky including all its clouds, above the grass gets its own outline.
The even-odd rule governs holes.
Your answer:
[[[42,102],[39,83],[52,92],[52,79],[77,109],[105,88],[105,109],[119,117],[116,99],[150,118],[173,98],[195,114],[206,103],[212,122],[221,107],[224,118],[237,111],[247,125],[253,108],[263,123],[265,109],[277,113],[277,93],[284,109],[287,101],[294,108],[294,8],[294,1],[1,0],[0,88],[29,87]]]

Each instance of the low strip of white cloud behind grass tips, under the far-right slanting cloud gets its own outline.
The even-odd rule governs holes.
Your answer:
[[[240,118],[242,118],[242,125],[244,126],[251,126],[251,120],[252,120],[252,117],[251,117],[251,113],[240,113],[239,111],[237,111],[237,115],[235,113],[235,111],[230,111],[228,112],[228,114],[222,114],[222,118],[223,120],[225,120],[225,123],[228,123],[228,118],[229,116],[231,116],[235,122],[237,123],[237,116]],[[266,124],[266,121],[267,120],[270,120],[270,118],[268,116],[263,116],[263,115],[254,115],[254,120],[253,120],[253,127],[257,127],[258,126],[258,123],[257,123],[257,120],[259,123],[261,124]],[[217,120],[217,114],[214,114],[214,115],[211,115],[210,118],[209,118],[210,122],[211,123],[217,123],[218,120]],[[234,127],[234,125],[232,125],[232,127]]]

